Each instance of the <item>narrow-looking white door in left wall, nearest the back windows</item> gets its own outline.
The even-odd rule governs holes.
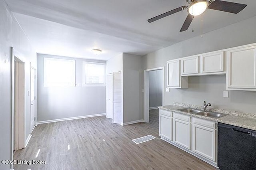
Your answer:
[[[35,126],[35,69],[30,67],[30,132]]]

